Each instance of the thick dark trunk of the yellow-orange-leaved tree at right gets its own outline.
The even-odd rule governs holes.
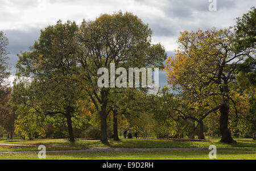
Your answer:
[[[235,140],[232,139],[230,131],[228,129],[228,118],[229,118],[229,107],[225,104],[220,107],[220,132],[221,132],[221,142],[222,143],[234,143]]]

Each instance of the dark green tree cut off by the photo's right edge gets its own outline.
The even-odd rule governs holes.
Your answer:
[[[248,56],[247,59],[237,66],[236,80],[238,86],[241,87],[242,93],[249,95],[250,106],[246,112],[246,119],[249,122],[250,131],[246,134],[253,135],[256,139],[256,59],[255,59],[255,41],[256,41],[256,9],[251,7],[251,10],[243,14],[241,18],[237,18],[236,23],[236,37],[237,37],[237,51],[245,48],[254,49],[254,53]]]

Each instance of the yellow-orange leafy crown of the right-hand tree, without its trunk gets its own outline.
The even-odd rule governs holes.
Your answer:
[[[204,89],[207,82],[218,71],[219,62],[224,56],[222,34],[229,35],[229,30],[210,30],[180,32],[178,49],[174,56],[166,61],[165,71],[168,84],[183,87],[184,90]],[[210,87],[209,87],[210,89]]]

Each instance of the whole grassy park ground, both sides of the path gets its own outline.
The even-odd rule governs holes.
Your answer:
[[[210,138],[209,141],[121,139],[109,140],[108,144],[102,144],[99,140],[76,140],[71,143],[65,139],[14,139],[10,142],[0,139],[0,144],[20,144],[19,146],[0,145],[0,160],[38,159],[36,153],[39,151],[38,145],[46,145],[47,159],[209,159],[209,145],[216,145],[217,159],[256,159],[255,140],[236,137],[234,139],[237,143],[221,143],[220,137]],[[154,148],[154,150],[140,151],[138,148]]]

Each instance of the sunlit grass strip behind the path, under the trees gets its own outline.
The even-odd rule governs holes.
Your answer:
[[[64,139],[36,139],[36,140],[15,140],[14,142],[5,142],[6,140],[0,140],[0,143],[10,144],[28,144],[28,145],[46,145],[46,146],[67,146],[80,148],[89,147],[112,147],[112,148],[192,148],[192,147],[204,147],[209,145],[216,145],[216,147],[250,147],[251,150],[255,150],[256,141],[252,139],[236,138],[237,143],[221,143],[219,139],[210,139],[208,141],[170,141],[170,140],[150,140],[150,139],[121,139],[120,141],[109,140],[108,144],[102,144],[99,140],[76,140],[71,143]],[[75,148],[74,148],[75,149]],[[238,148],[239,149],[239,148]],[[1,151],[1,150],[0,150]]]

